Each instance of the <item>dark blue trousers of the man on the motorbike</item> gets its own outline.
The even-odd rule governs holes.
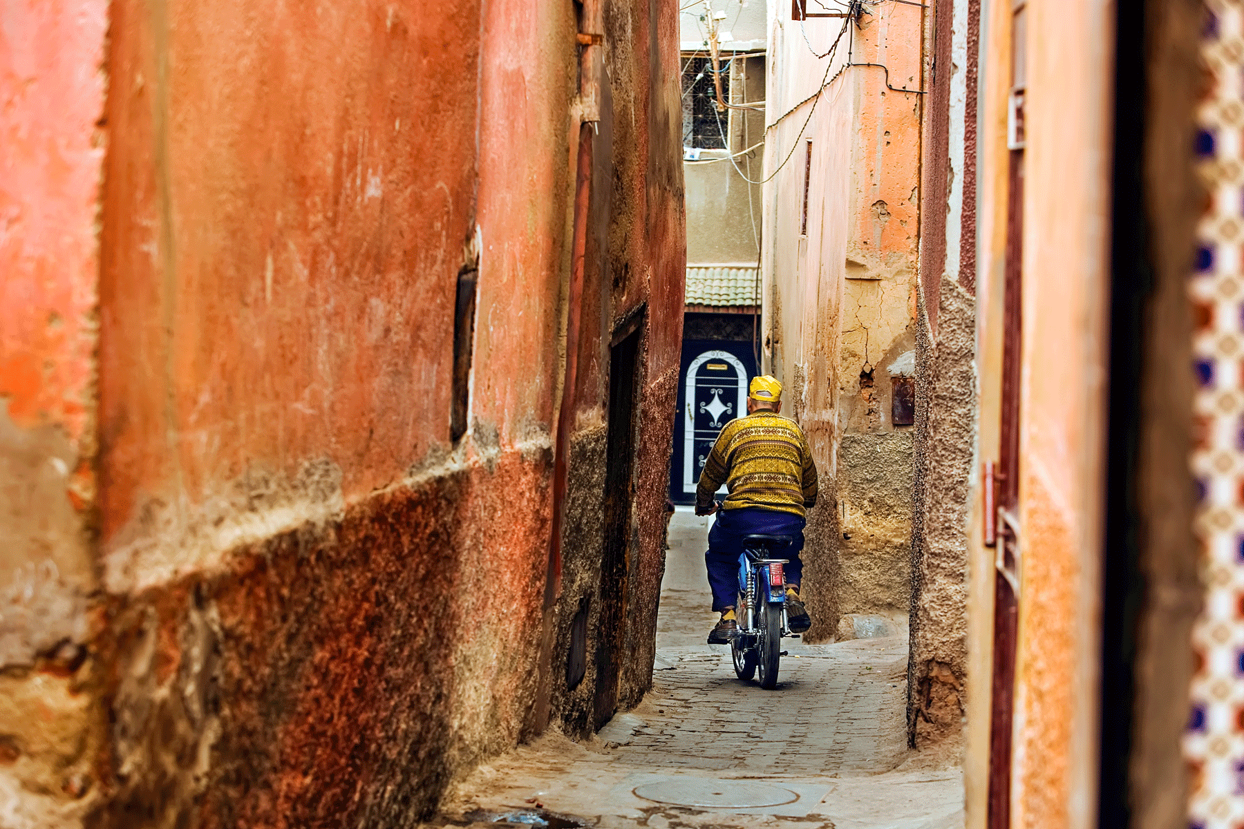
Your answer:
[[[720,611],[739,603],[739,557],[743,556],[744,536],[791,536],[790,547],[778,553],[776,558],[790,559],[786,583],[797,587],[804,574],[799,551],[804,549],[805,523],[794,513],[760,507],[718,511],[717,521],[708,531],[708,552],[704,553],[713,609]]]

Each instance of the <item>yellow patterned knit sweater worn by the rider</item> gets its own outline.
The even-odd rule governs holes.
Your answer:
[[[695,505],[708,507],[722,483],[726,510],[760,507],[806,515],[816,505],[816,464],[804,430],[773,411],[756,411],[722,428],[709,452]]]

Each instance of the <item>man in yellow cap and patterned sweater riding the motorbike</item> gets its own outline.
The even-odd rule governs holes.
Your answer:
[[[781,383],[765,374],[748,388],[748,416],[722,428],[695,488],[695,515],[718,512],[713,495],[725,483],[729,495],[708,533],[708,583],[713,609],[722,619],[708,644],[725,645],[739,629],[734,604],[739,597],[739,557],[743,537],[790,536],[781,552],[786,564],[786,621],[791,633],[804,633],[812,620],[799,598],[804,564],[804,526],[816,505],[816,464],[804,430],[781,411]]]

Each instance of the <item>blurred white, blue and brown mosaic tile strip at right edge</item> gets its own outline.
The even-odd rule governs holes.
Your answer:
[[[1193,631],[1197,670],[1184,754],[1189,825],[1244,827],[1244,9],[1210,0],[1207,97],[1195,152],[1207,185],[1189,291],[1199,390],[1192,457],[1207,584]]]

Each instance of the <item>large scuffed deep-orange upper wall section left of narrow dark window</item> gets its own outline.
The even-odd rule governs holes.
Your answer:
[[[348,500],[444,450],[475,5],[112,16],[104,546],[255,470],[326,460]]]

